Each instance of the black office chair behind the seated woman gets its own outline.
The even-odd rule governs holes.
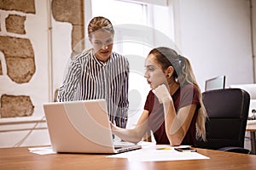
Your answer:
[[[244,148],[250,95],[240,88],[210,90],[202,94],[207,110],[207,142],[195,146],[248,154]]]

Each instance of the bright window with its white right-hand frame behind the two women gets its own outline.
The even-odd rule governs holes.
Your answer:
[[[169,44],[166,34],[169,22],[162,22],[168,16],[168,8],[128,0],[91,0],[91,17],[108,18],[115,29],[113,51],[127,57],[130,64],[129,77],[129,119],[127,127],[133,127],[143,111],[150,90],[144,78],[144,61],[148,52],[160,43]],[[159,19],[161,20],[154,20]]]

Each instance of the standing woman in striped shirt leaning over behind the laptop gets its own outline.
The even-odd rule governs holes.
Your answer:
[[[90,20],[92,48],[75,56],[59,88],[58,101],[106,99],[110,122],[126,127],[128,114],[128,60],[113,49],[113,25],[102,16]]]

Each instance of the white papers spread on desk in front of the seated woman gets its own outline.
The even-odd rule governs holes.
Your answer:
[[[177,161],[209,159],[209,157],[203,156],[197,152],[179,152],[174,150],[174,147],[166,144],[144,146],[141,150],[128,151],[107,157],[127,158],[129,161]]]

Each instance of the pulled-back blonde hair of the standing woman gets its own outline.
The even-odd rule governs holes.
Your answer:
[[[98,30],[108,31],[112,35],[114,34],[112,23],[110,22],[110,20],[102,16],[97,16],[90,20],[90,23],[88,25],[89,38],[91,38],[91,33]]]

